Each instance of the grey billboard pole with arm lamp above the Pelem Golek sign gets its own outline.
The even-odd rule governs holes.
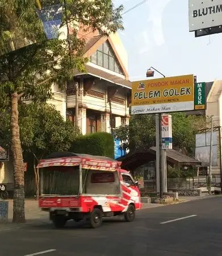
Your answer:
[[[160,71],[158,71],[156,68],[150,67],[146,71],[146,77],[154,77],[154,71],[159,73],[161,76],[165,77],[164,74],[162,74]],[[164,167],[164,164],[162,163],[162,160],[166,158],[165,154],[163,155],[162,152],[162,131],[161,131],[161,119],[162,115],[161,113],[156,114],[156,168],[157,168],[157,180],[160,179],[160,200],[162,200],[163,196],[163,175],[162,175],[162,167]],[[163,157],[164,156],[164,157]],[[165,171],[165,170],[164,170]],[[165,175],[164,175],[165,177]],[[165,182],[165,180],[164,180]],[[157,181],[157,187],[158,187],[158,181]],[[164,186],[166,188],[166,185]],[[157,189],[158,190],[158,189]]]

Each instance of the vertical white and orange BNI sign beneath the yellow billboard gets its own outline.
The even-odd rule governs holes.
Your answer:
[[[162,131],[162,148],[172,149],[172,117],[171,115],[162,114],[161,119],[161,131]]]

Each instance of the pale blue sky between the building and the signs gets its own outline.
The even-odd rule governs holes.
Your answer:
[[[114,0],[114,5],[123,4],[127,11],[140,2]],[[148,0],[123,15],[125,30],[119,35],[131,81],[144,80],[150,66],[165,76],[194,74],[198,82],[222,79],[222,34],[195,38],[189,32],[188,2]]]

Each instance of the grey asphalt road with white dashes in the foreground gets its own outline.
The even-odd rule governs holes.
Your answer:
[[[62,230],[44,223],[6,230],[0,256],[219,256],[221,228],[222,197],[212,197],[141,210],[132,223],[108,219],[99,229],[71,222]]]

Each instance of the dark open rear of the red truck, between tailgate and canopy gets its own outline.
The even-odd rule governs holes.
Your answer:
[[[43,194],[70,196],[79,193],[79,168],[53,166],[43,169]]]

